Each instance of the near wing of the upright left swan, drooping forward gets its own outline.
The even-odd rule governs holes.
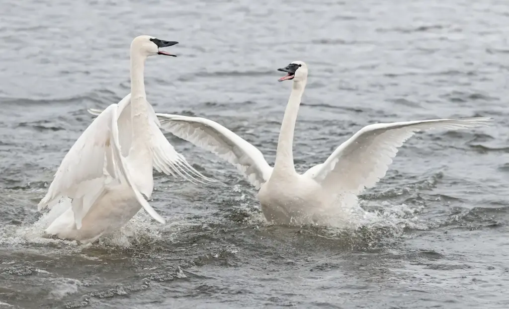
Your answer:
[[[164,222],[133,185],[121,154],[117,109],[117,104],[108,106],[74,143],[39,203],[39,210],[51,208],[67,196],[72,199],[74,221],[80,229],[81,220],[104,192],[106,181],[127,182],[145,210],[157,221]]]

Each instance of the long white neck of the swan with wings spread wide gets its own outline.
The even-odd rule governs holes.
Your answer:
[[[274,173],[287,174],[295,173],[293,163],[293,132],[295,130],[295,121],[299,113],[300,100],[306,87],[306,80],[294,81],[292,93],[288,99],[285,110],[285,116],[281,123],[279,139],[277,141],[276,162],[274,163]]]

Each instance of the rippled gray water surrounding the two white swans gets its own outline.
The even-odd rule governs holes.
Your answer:
[[[509,4],[502,0],[3,0],[0,307],[507,308]],[[166,134],[218,180],[155,173],[151,205],[91,245],[41,238],[37,203],[93,117],[129,93],[129,44],[156,111],[215,120],[273,163],[290,82],[309,66],[295,163],[323,162],[364,125],[488,116],[419,133],[361,196],[359,228],[265,222],[233,166]]]

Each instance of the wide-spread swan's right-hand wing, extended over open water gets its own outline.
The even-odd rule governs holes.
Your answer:
[[[341,144],[323,164],[304,175],[333,191],[361,193],[385,176],[398,148],[416,131],[464,129],[487,125],[490,118],[439,119],[373,124]]]

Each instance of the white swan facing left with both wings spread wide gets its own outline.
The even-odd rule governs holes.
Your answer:
[[[161,129],[235,165],[259,189],[263,215],[276,224],[328,224],[330,219],[335,220],[331,213],[341,208],[338,203],[356,204],[357,195],[385,176],[398,148],[416,131],[471,128],[491,120],[477,117],[371,124],[337,147],[324,163],[301,175],[294,167],[293,137],[307,65],[295,61],[278,71],[287,73],[279,81],[292,80],[292,91],[281,123],[274,167],[260,150],[212,120],[156,114]]]

